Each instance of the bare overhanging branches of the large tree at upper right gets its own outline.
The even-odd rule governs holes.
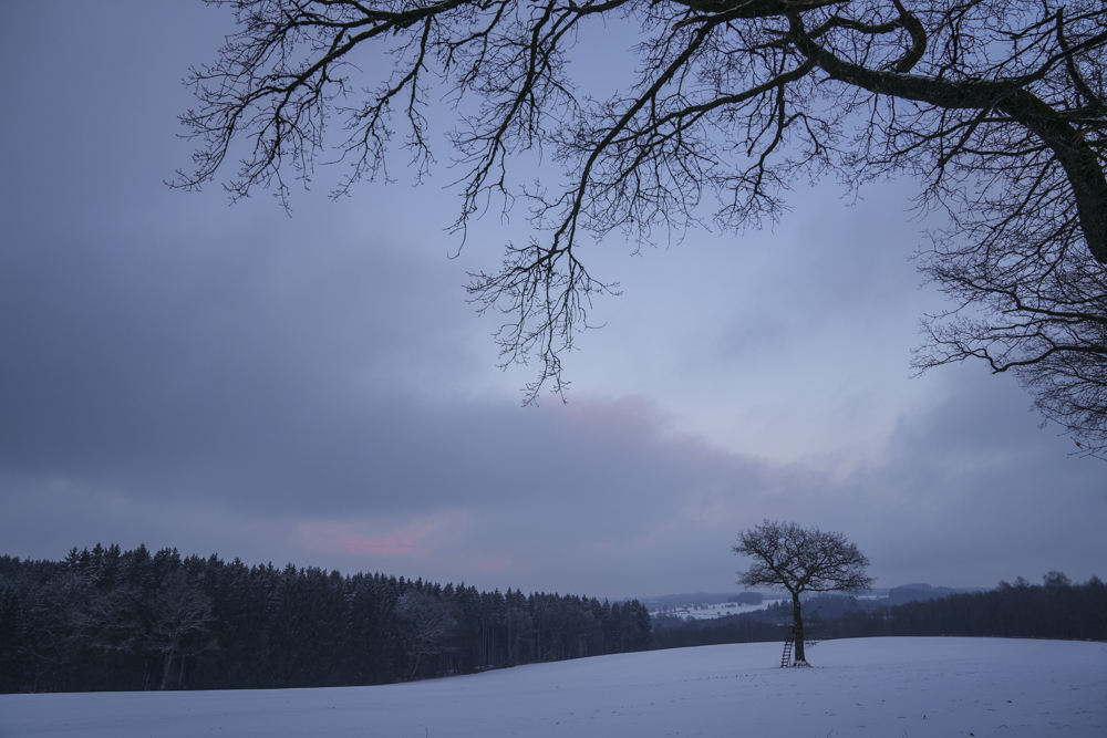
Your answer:
[[[586,269],[592,239],[741,230],[778,218],[797,180],[907,175],[921,211],[949,216],[920,264],[953,305],[925,321],[917,366],[1013,371],[1084,447],[1107,444],[1101,0],[211,1],[239,29],[193,70],[183,122],[198,148],[176,185],[240,157],[232,197],[269,187],[287,202],[331,146],[339,195],[387,178],[390,146],[425,173],[426,111],[454,105],[454,228],[529,205],[531,240],[468,285],[506,315],[503,361],[540,360],[529,398],[563,388],[591,299],[617,289]],[[578,33],[611,22],[640,28],[637,80],[580,95]],[[366,50],[375,79],[354,66]],[[516,187],[525,150],[562,177]]]

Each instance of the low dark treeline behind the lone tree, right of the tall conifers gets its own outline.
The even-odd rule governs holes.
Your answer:
[[[1107,585],[1093,576],[1074,584],[1051,572],[1043,584],[1018,578],[987,592],[952,594],[891,607],[823,595],[804,601],[805,631],[814,640],[873,636],[964,636],[1107,641]],[[654,619],[654,648],[783,641],[790,603],[714,621]]]

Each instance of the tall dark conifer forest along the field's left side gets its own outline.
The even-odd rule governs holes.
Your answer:
[[[248,567],[145,545],[0,557],[0,692],[369,685],[642,651],[639,602]]]

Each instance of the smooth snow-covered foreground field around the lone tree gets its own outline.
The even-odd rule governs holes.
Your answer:
[[[775,643],[583,658],[380,687],[0,696],[4,738],[1107,736],[1107,644]]]

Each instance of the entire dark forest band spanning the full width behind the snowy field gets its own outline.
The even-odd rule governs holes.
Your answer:
[[[1042,585],[888,606],[805,600],[809,637],[1107,641],[1107,585]],[[0,693],[385,684],[646,648],[782,641],[790,603],[684,621],[630,602],[478,592],[384,574],[247,567],[139,545],[0,557]]]

